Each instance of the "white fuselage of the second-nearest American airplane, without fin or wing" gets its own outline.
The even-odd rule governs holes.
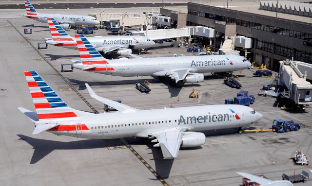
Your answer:
[[[174,69],[191,69],[191,73],[227,72],[246,69],[250,62],[236,55],[204,55],[181,57],[156,57],[139,59],[107,60],[107,64],[93,65],[87,71],[113,76],[164,76],[165,72]],[[82,63],[75,63],[74,68],[87,67]]]

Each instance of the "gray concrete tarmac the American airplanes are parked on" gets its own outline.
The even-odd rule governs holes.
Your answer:
[[[312,109],[307,108],[306,112],[284,111],[277,106],[274,98],[258,96],[262,85],[270,84],[273,79],[252,77],[255,69],[234,73],[240,75],[242,89],[255,95],[256,101],[251,107],[263,114],[263,118],[253,127],[267,129],[274,118],[283,118],[302,123],[301,130],[284,134],[238,134],[235,129],[204,131],[206,144],[199,148],[182,148],[175,160],[163,160],[160,149],[154,148],[148,139],[126,138],[123,142],[120,139],[57,136],[47,132],[32,135],[34,125],[17,109],[25,107],[34,110],[23,71],[36,70],[71,107],[89,112],[92,110],[73,90],[68,89],[69,86],[25,42],[7,19],[21,33],[25,25],[31,27],[33,34],[23,35],[35,47],[37,42],[51,37],[48,27],[42,23],[33,23],[27,18],[0,18],[0,185],[240,186],[242,178],[236,174],[238,171],[265,174],[269,179],[279,180],[282,173],[292,175],[294,169],[296,173],[311,169],[309,166],[293,165],[290,158],[297,150],[311,157]],[[68,33],[73,35],[74,30]],[[106,31],[97,30],[94,35],[107,34]],[[195,55],[187,53],[186,48],[172,48],[169,45],[156,44],[154,49],[142,55]],[[54,46],[39,52],[57,70],[60,70],[60,64],[79,59],[78,51]],[[210,73],[205,74],[204,82],[183,87],[170,87],[168,80],[162,82],[148,76],[114,77],[79,70],[62,75],[100,113],[104,112],[103,104],[89,96],[84,83],[91,85],[99,96],[121,99],[124,104],[142,110],[223,104],[225,99],[234,97],[239,91],[224,85],[222,77],[215,78]],[[145,79],[152,83],[150,94],[140,93],[135,88],[135,83]],[[193,89],[201,93],[200,99],[188,97]],[[130,146],[125,146],[127,143]],[[156,171],[156,175],[148,168]],[[311,179],[305,184],[296,184],[310,185]]]

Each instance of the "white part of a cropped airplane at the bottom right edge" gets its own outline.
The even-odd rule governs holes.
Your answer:
[[[293,186],[292,182],[287,180],[278,180],[272,181],[266,178],[262,178],[259,176],[255,176],[253,174],[245,173],[245,172],[236,172],[237,174],[250,179],[253,182],[260,184],[260,186]]]

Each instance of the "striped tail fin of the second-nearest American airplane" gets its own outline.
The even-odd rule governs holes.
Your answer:
[[[93,47],[82,34],[75,35],[77,48],[83,65],[105,65],[108,61]],[[111,69],[114,70],[114,69]]]

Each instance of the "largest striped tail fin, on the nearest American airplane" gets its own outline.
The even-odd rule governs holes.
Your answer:
[[[67,106],[36,71],[24,73],[39,120],[78,119],[76,110]]]

